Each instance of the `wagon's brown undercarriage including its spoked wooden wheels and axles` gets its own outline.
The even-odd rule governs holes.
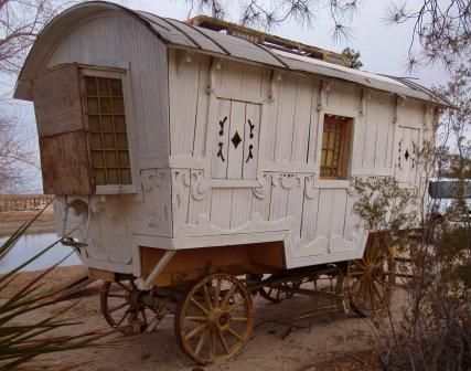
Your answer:
[[[234,357],[249,340],[255,322],[251,297],[257,294],[275,304],[293,295],[327,303],[298,311],[296,319],[331,311],[374,317],[388,306],[395,278],[393,256],[367,248],[357,261],[265,275],[206,272],[181,285],[148,290],[138,289],[132,277],[106,282],[101,309],[107,322],[126,335],[151,332],[164,316],[173,315],[179,346],[195,362],[210,364]]]

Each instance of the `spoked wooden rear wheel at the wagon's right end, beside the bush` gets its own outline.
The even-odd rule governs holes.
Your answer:
[[[375,317],[390,303],[396,280],[395,262],[387,248],[372,244],[362,259],[351,261],[345,290],[352,310],[363,317]]]

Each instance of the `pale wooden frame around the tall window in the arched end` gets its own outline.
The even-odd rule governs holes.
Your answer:
[[[130,89],[129,74],[126,70],[114,68],[114,67],[98,67],[98,66],[84,66],[79,65],[81,73],[81,84],[82,84],[82,97],[83,97],[83,109],[85,118],[85,130],[87,138],[87,148],[88,148],[88,163],[89,171],[93,179],[93,159],[92,150],[89,142],[89,123],[88,123],[88,113],[86,106],[86,91],[85,91],[85,76],[92,77],[105,77],[105,78],[119,78],[122,86],[122,99],[125,105],[125,121],[126,121],[126,135],[128,139],[128,152],[129,152],[129,165],[131,173],[131,183],[129,184],[95,184],[94,194],[136,194],[138,193],[137,180],[139,179],[139,173],[137,172],[137,159],[136,159],[136,134],[135,134],[135,115],[133,115],[133,102],[132,94]]]

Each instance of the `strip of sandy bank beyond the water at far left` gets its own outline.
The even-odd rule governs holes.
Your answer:
[[[0,237],[17,231],[23,223],[32,220],[39,210],[25,211],[0,211]],[[50,205],[28,229],[26,233],[49,233],[55,232],[54,210]]]

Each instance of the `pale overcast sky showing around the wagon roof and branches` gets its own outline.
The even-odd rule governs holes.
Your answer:
[[[231,4],[228,19],[237,21],[239,0],[223,1]],[[185,0],[122,0],[119,3],[131,9],[146,10],[179,20],[185,20],[190,10],[190,6]],[[320,9],[315,13],[317,20],[311,29],[303,29],[295,22],[285,22],[270,32],[286,39],[338,52],[345,46],[350,46],[361,52],[362,70],[395,76],[407,76],[406,56],[413,24],[386,25],[383,21],[383,15],[387,4],[388,0],[362,0],[358,12],[352,22],[353,38],[347,42],[334,42],[332,38],[333,23],[325,9]],[[196,13],[192,15],[196,15]],[[419,68],[411,76],[417,77],[419,83],[428,87],[445,84],[448,80],[447,72],[440,67],[431,66]],[[12,95],[15,78],[9,76],[0,80],[3,82],[3,84],[0,84],[0,95],[4,102],[6,98],[10,98]],[[21,102],[13,109],[20,118],[19,130],[31,132],[32,140],[38,141],[32,104]],[[40,171],[38,169],[26,169],[25,171],[30,181],[24,191],[41,192]]]

